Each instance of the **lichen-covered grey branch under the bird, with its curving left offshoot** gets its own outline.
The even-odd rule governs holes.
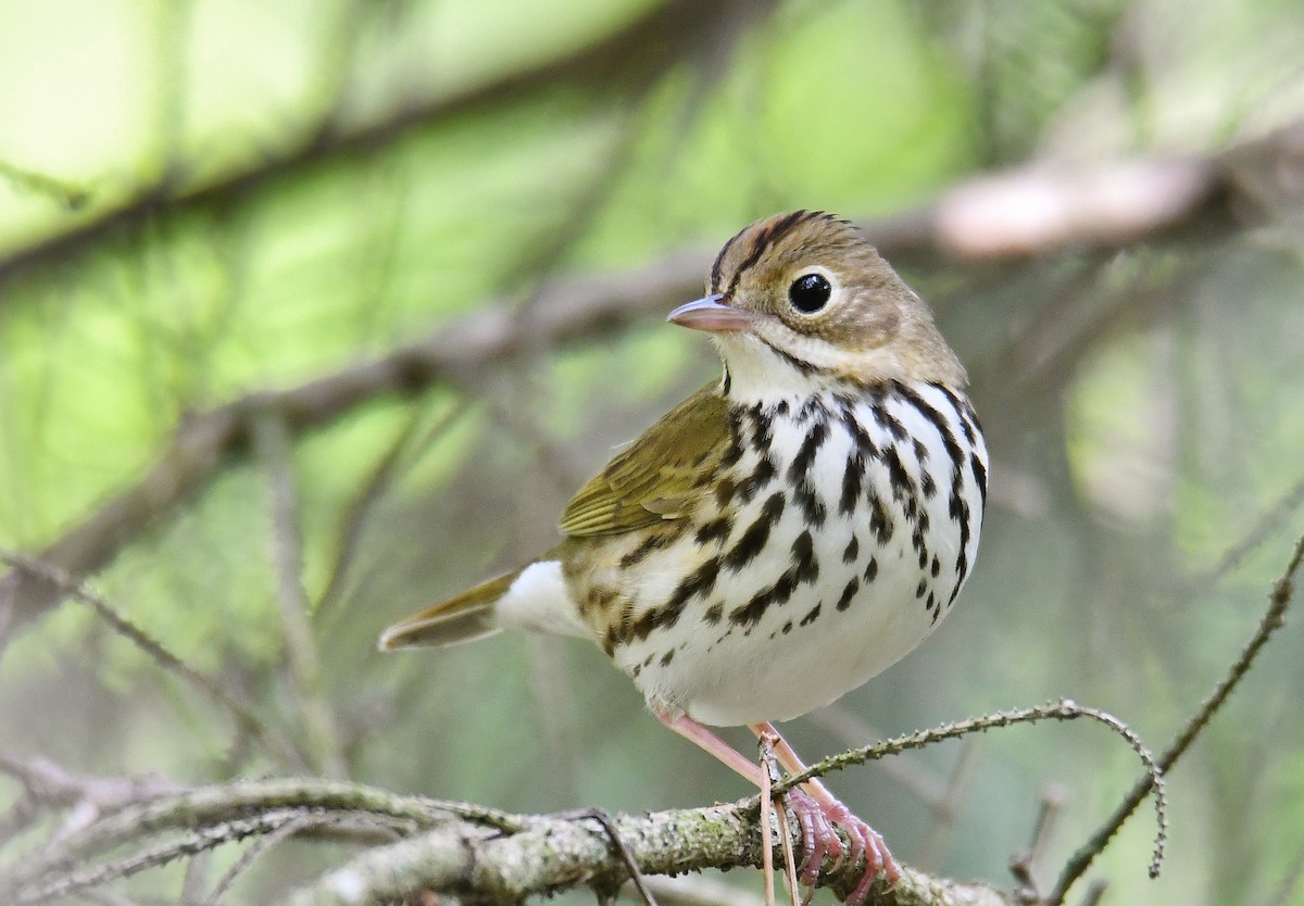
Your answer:
[[[366,850],[300,890],[292,902],[373,902],[433,889],[477,902],[515,903],[527,894],[580,884],[614,890],[629,877],[629,864],[647,875],[759,866],[758,817],[755,798],[593,821],[591,813],[506,815],[312,778],[236,782],[158,795],[107,815],[18,860],[0,876],[0,898],[34,902],[85,890],[250,834],[292,833],[284,829],[288,825],[317,833],[342,820],[366,820],[411,837]],[[154,837],[162,838],[150,842]],[[613,840],[621,845],[613,846]],[[124,846],[130,849],[126,855],[102,860]],[[858,881],[855,866],[833,867],[822,879],[844,893]],[[1003,894],[986,886],[911,869],[892,890],[875,886],[870,902],[1008,906]]]

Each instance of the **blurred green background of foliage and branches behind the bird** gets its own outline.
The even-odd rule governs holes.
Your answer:
[[[87,575],[288,748],[10,576],[0,753],[516,811],[746,794],[596,647],[374,641],[544,550],[717,374],[662,315],[797,207],[866,223],[934,305],[992,506],[947,623],[789,738],[815,759],[1071,696],[1161,748],[1304,528],[1300,47],[1295,0],[3,0],[0,546]],[[1129,160],[1178,167],[1136,227],[1088,176]],[[1168,164],[1121,206],[1167,198]],[[1073,190],[939,227],[1004,172]],[[1304,903],[1301,665],[1287,627],[1170,777],[1163,877],[1142,812],[1093,869],[1106,902]],[[1046,796],[1043,883],[1137,776],[1048,723],[831,785],[904,862],[1008,885]],[[0,862],[22,803],[0,776]],[[223,902],[343,855],[286,843]]]

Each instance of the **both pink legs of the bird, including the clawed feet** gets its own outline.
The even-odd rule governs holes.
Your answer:
[[[715,755],[755,783],[758,789],[762,787],[764,778],[760,765],[743,757],[733,746],[717,737],[708,727],[698,723],[687,714],[669,717],[660,712],[655,713],[657,720],[665,726]],[[793,773],[806,770],[806,765],[802,764],[797,752],[793,751],[793,747],[788,744],[788,740],[780,735],[772,723],[752,723],[750,729],[758,737],[763,733],[773,737],[775,756],[788,770]],[[807,781],[802,786],[805,790],[792,790],[788,794],[793,812],[797,815],[797,820],[802,828],[802,850],[806,854],[805,859],[802,859],[802,884],[807,886],[815,884],[820,868],[824,866],[824,858],[829,854],[835,858],[835,866],[841,864],[844,855],[849,856],[853,863],[865,856],[865,875],[861,877],[861,883],[855,885],[852,896],[846,898],[850,906],[859,906],[859,903],[865,902],[865,897],[870,892],[870,885],[874,884],[874,879],[878,877],[880,869],[887,876],[888,884],[896,884],[900,877],[900,869],[892,854],[888,853],[888,847],[883,843],[883,837],[868,824],[853,815],[818,780]],[[842,841],[835,828],[842,828],[852,838],[852,851],[849,854],[844,854]]]

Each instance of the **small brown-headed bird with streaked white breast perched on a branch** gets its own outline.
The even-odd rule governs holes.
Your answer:
[[[927,304],[852,223],[799,210],[734,235],[668,321],[709,335],[719,379],[621,448],[535,561],[394,623],[382,650],[502,630],[597,643],[670,730],[758,786],[712,726],[773,723],[858,688],[951,611],[978,553],[987,448]],[[819,781],[789,798],[801,881],[898,866]],[[844,845],[837,834],[848,838]]]

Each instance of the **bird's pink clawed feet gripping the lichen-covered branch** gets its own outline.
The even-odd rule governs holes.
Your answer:
[[[802,884],[814,886],[824,860],[829,856],[833,858],[831,868],[845,863],[854,866],[865,859],[865,873],[846,898],[848,906],[859,906],[865,902],[870,885],[878,879],[879,872],[883,872],[888,885],[897,883],[901,869],[883,842],[883,837],[841,802],[831,795],[827,802],[822,802],[802,790],[790,790],[788,804],[802,830]],[[842,843],[838,828],[850,840],[850,847]]]

